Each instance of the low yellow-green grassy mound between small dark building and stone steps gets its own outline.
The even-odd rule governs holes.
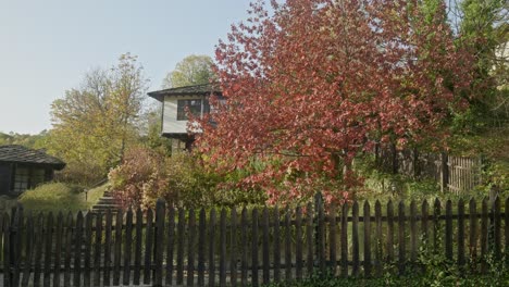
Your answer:
[[[90,209],[104,194],[108,184],[88,191],[87,199],[83,188],[62,183],[50,183],[24,192],[18,201],[25,210],[34,212],[78,212]]]

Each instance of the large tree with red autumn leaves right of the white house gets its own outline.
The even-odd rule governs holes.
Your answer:
[[[440,138],[464,107],[468,58],[445,7],[417,0],[288,0],[251,4],[216,49],[226,102],[200,122],[199,149],[218,171],[270,202],[331,201],[357,183],[348,166],[375,142]],[[210,124],[213,122],[213,124]]]

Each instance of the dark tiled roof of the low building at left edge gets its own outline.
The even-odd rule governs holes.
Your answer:
[[[18,145],[0,146],[0,162],[50,165],[54,170],[65,167],[65,162],[48,155],[42,150],[28,149]]]

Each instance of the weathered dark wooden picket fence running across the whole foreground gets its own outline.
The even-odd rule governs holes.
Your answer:
[[[313,274],[402,275],[423,271],[422,250],[445,254],[460,272],[486,273],[488,254],[501,262],[509,252],[509,212],[500,205],[497,198],[325,207],[316,196],[291,210],[219,213],[163,201],[154,212],[66,216],[18,207],[0,221],[3,286],[259,286]]]

